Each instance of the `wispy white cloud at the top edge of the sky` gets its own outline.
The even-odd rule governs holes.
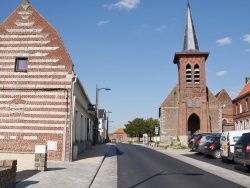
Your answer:
[[[131,10],[140,4],[140,0],[118,0],[117,3],[112,4],[104,4],[103,7],[108,9],[118,8],[118,9],[126,9]]]

